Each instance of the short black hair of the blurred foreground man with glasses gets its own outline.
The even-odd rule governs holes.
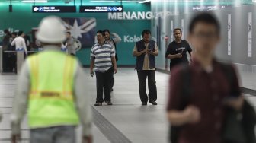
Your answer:
[[[220,33],[220,24],[216,16],[209,12],[200,12],[195,15],[190,21],[189,32],[193,33],[194,27],[197,23],[202,22],[205,24],[213,24],[216,27],[217,33]]]

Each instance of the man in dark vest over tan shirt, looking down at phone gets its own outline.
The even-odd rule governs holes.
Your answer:
[[[142,40],[136,42],[133,56],[136,56],[136,70],[139,79],[139,97],[142,106],[149,103],[157,105],[157,91],[155,85],[155,56],[158,56],[158,46],[155,41],[150,40],[150,30],[142,31]],[[146,78],[148,78],[149,97],[146,93]]]

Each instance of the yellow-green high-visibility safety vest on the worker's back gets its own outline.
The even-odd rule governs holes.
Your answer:
[[[45,51],[28,57],[30,128],[78,125],[73,84],[76,59],[59,51]]]

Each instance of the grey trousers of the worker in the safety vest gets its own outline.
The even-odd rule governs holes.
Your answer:
[[[75,143],[75,126],[30,129],[30,143]]]

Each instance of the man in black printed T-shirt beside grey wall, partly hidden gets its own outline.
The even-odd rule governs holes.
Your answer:
[[[189,43],[187,43],[186,40],[181,39],[181,36],[182,36],[181,29],[175,28],[173,33],[174,33],[175,40],[168,45],[167,51],[165,53],[165,58],[171,59],[170,71],[171,71],[171,68],[173,68],[175,65],[178,65],[181,63],[188,64],[187,52],[189,52],[189,54],[192,52],[192,49]]]

